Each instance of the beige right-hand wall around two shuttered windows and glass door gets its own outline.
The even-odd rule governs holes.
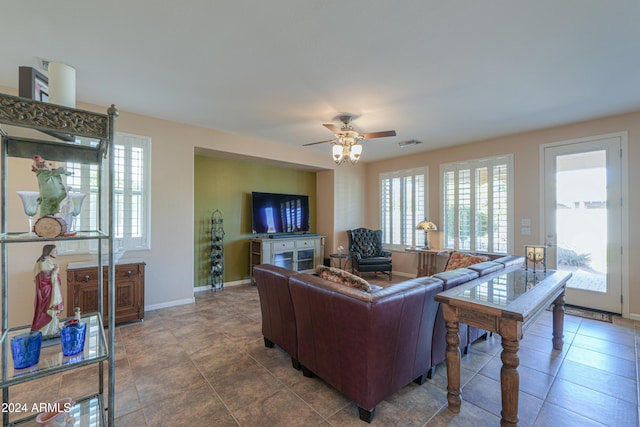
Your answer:
[[[381,172],[409,169],[419,166],[429,167],[429,218],[436,224],[441,223],[440,211],[440,164],[479,159],[499,154],[514,154],[514,222],[516,230],[522,218],[531,218],[531,235],[521,236],[516,233],[514,248],[517,254],[522,255],[525,244],[538,244],[543,242],[541,236],[540,217],[540,145],[567,141],[577,138],[605,135],[617,132],[628,132],[629,147],[629,198],[627,206],[631,218],[629,227],[628,262],[633,266],[640,259],[640,225],[633,221],[635,213],[640,209],[640,193],[632,183],[640,179],[640,112],[623,114],[614,117],[590,120],[567,126],[559,126],[550,129],[537,130],[487,141],[480,141],[448,149],[430,151],[387,161],[369,163],[367,165],[366,188],[369,197],[366,200],[366,222],[371,226],[380,223],[378,177]],[[439,233],[438,234],[438,238]],[[433,242],[436,237],[431,235]],[[441,247],[441,246],[440,246]],[[416,271],[416,259],[405,253],[394,254],[394,271],[400,273],[413,273]],[[636,275],[628,277],[629,287],[629,314],[640,319],[640,279]]]

